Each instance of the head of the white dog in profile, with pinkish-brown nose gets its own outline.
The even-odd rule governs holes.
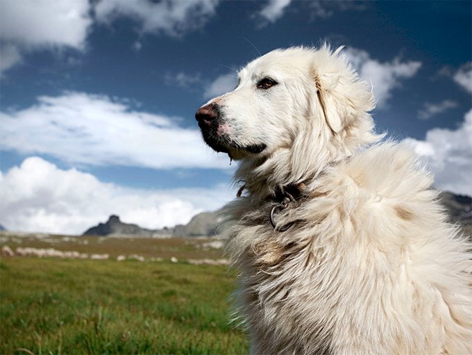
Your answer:
[[[239,72],[233,91],[196,112],[203,139],[242,159],[292,149],[301,135],[311,144],[342,142],[363,121],[370,131],[371,89],[338,52],[296,47],[253,60]]]

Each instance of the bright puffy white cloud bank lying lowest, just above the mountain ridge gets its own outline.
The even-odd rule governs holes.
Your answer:
[[[30,157],[0,172],[1,224],[12,231],[81,234],[111,214],[149,229],[185,224],[196,213],[220,208],[228,186],[144,190],[103,183],[76,169],[61,170]]]

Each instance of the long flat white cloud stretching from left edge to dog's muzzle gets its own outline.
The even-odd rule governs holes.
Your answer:
[[[205,147],[199,129],[106,96],[39,97],[29,108],[0,112],[0,120],[0,147],[22,154],[90,165],[228,168],[224,157]]]

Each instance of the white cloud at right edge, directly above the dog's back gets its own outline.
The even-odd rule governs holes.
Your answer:
[[[430,129],[425,140],[407,138],[435,175],[435,186],[472,196],[472,110],[455,129]]]

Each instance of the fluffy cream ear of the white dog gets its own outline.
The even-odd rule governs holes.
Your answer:
[[[333,133],[368,116],[375,107],[370,86],[359,79],[339,51],[320,49],[313,67],[319,108]]]

